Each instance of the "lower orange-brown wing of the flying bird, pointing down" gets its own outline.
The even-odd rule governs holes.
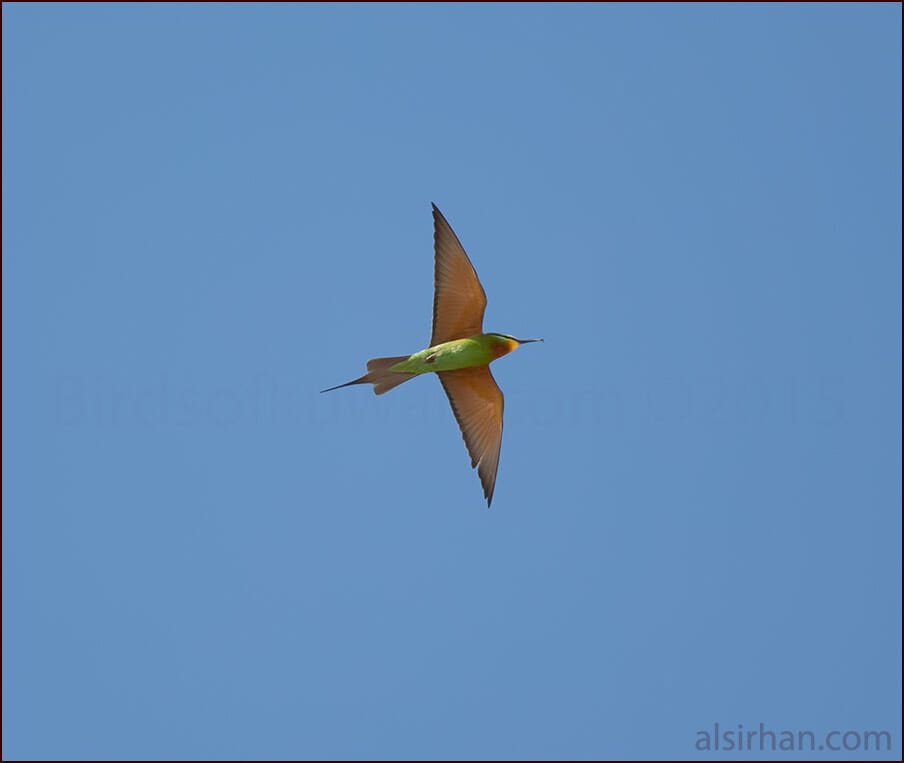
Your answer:
[[[477,467],[489,506],[493,501],[502,447],[502,390],[489,366],[441,371],[437,376],[452,404],[452,412],[471,456],[471,468]]]

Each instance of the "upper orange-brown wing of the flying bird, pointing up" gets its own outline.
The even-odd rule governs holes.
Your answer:
[[[483,333],[487,295],[464,247],[433,205],[433,337],[430,346]]]

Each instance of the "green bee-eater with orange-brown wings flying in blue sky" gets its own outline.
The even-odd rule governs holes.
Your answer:
[[[486,292],[477,271],[436,204],[433,207],[433,332],[430,345],[413,355],[371,358],[367,373],[321,392],[354,384],[372,384],[383,395],[409,379],[435,373],[449,398],[462,439],[477,468],[487,507],[493,503],[502,447],[502,390],[490,363],[522,344],[542,339],[515,339],[484,333]]]

